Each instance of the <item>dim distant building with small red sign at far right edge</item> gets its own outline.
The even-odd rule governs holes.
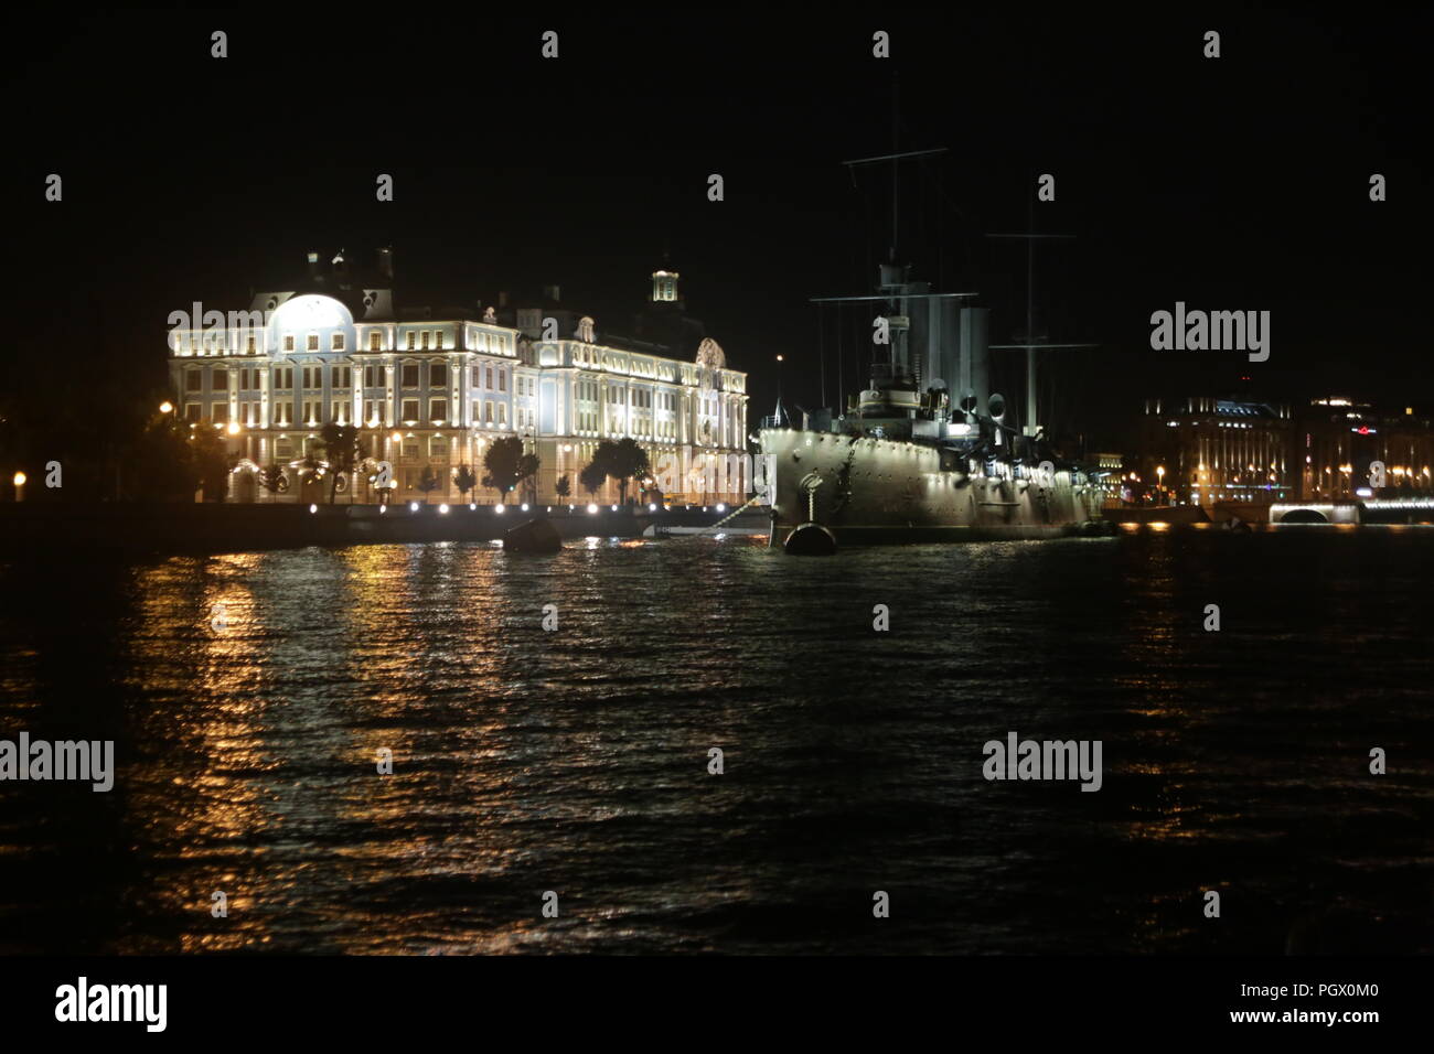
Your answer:
[[[1428,493],[1434,422],[1412,406],[1378,409],[1355,399],[1315,399],[1299,417],[1299,498],[1398,498]],[[1382,486],[1375,465],[1384,466]]]

